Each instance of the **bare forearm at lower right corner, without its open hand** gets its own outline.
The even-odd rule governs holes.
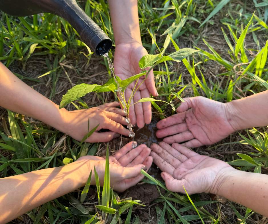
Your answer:
[[[218,195],[267,217],[268,175],[233,170],[222,175],[220,182]]]

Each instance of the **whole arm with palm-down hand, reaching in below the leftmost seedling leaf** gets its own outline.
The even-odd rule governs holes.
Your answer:
[[[90,119],[89,130],[100,124],[96,132],[87,139],[88,142],[99,142],[100,139],[110,141],[120,134],[128,136],[129,133],[129,130],[121,125],[127,125],[123,117],[124,112],[113,108],[119,105],[118,102],[78,111],[59,109],[59,105],[25,84],[1,62],[0,96],[1,107],[43,121],[76,140],[82,140],[88,133],[88,119]],[[111,131],[98,133],[101,128]]]

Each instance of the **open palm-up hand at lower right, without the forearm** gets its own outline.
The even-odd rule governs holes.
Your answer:
[[[153,162],[163,171],[161,177],[167,189],[174,192],[217,194],[222,185],[221,177],[236,171],[222,160],[199,155],[178,143],[173,143],[172,147],[165,142],[154,143],[151,150]]]

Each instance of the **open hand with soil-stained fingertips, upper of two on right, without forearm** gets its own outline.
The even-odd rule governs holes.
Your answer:
[[[184,101],[177,108],[177,114],[157,123],[156,136],[169,136],[164,142],[185,142],[182,145],[196,148],[214,144],[236,130],[228,103],[202,96],[184,98]]]

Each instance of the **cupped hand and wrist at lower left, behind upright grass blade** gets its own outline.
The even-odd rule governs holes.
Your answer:
[[[123,192],[127,188],[141,181],[144,175],[141,169],[146,172],[152,165],[153,157],[149,156],[151,149],[145,144],[132,148],[129,142],[114,155],[109,157],[110,186],[116,191]],[[95,183],[94,166],[98,173],[100,185],[103,186],[105,173],[105,158],[99,156],[82,156],[77,161],[87,161],[89,172],[92,170],[91,184]]]

